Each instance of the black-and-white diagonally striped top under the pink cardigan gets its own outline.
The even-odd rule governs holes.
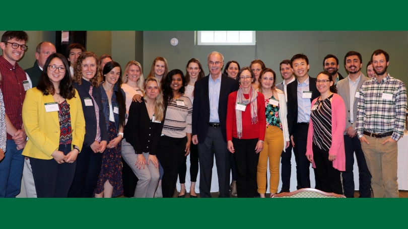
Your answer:
[[[316,109],[310,113],[313,121],[313,144],[322,150],[329,151],[331,147],[331,96],[320,101],[317,99]],[[313,109],[313,108],[312,108]]]

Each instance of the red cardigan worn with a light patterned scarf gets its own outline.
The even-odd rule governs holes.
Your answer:
[[[227,141],[232,140],[232,137],[237,136],[237,117],[235,105],[237,102],[238,91],[231,93],[228,96],[228,108],[227,108]],[[244,94],[245,99],[249,98],[249,94]],[[241,139],[253,139],[258,138],[264,140],[265,138],[265,99],[261,93],[258,92],[257,101],[257,117],[256,123],[251,123],[251,108],[246,106],[245,111],[242,111],[242,137]]]

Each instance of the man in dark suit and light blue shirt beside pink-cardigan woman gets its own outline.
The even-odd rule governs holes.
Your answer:
[[[296,171],[299,173],[298,189],[310,188],[310,162],[306,158],[307,131],[309,129],[312,101],[320,96],[316,88],[316,78],[307,74],[309,59],[306,55],[296,54],[291,59],[291,67],[297,80],[288,84],[288,127],[295,153]],[[316,187],[319,188],[315,173]]]

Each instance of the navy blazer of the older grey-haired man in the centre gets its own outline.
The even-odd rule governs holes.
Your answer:
[[[194,85],[194,102],[192,113],[192,135],[197,135],[198,143],[203,143],[206,140],[210,121],[210,97],[209,97],[209,78],[202,78],[195,82]],[[218,117],[220,119],[221,133],[224,141],[227,141],[226,120],[227,120],[227,104],[230,93],[237,91],[239,88],[238,81],[227,77],[225,74],[221,76],[220,98],[218,101]]]

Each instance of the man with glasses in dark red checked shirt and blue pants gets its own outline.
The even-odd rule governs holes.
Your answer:
[[[0,162],[0,197],[16,197],[20,193],[24,157],[21,155],[27,140],[21,117],[26,91],[31,88],[26,72],[17,63],[27,49],[28,35],[24,31],[6,31],[0,47],[0,72],[6,108],[7,147]]]

